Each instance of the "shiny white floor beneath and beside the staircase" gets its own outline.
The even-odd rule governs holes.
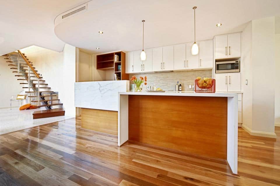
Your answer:
[[[57,116],[33,119],[32,113],[39,110],[44,109],[40,108],[21,111],[18,108],[12,108],[12,110],[9,108],[0,109],[0,135],[71,118],[70,116]]]

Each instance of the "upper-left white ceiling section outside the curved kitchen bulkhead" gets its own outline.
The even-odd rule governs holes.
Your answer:
[[[65,43],[55,35],[54,19],[84,2],[86,0],[1,0],[0,54],[31,45],[62,51]]]

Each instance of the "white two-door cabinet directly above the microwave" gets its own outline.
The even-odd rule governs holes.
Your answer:
[[[241,33],[215,37],[215,59],[241,56]]]

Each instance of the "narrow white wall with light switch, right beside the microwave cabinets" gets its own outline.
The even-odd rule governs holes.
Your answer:
[[[252,22],[249,22],[242,32],[242,79],[241,85],[243,86],[243,102],[242,102],[242,123],[246,127],[252,129]],[[248,79],[248,85],[245,80]]]

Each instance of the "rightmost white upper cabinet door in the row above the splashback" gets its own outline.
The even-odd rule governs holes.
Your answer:
[[[199,68],[213,68],[213,40],[199,41]]]

